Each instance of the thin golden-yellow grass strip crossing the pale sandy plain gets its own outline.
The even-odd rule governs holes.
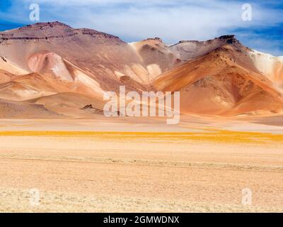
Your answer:
[[[90,137],[122,140],[192,140],[215,143],[283,143],[282,134],[237,131],[205,132],[91,132],[91,131],[0,131],[0,136]]]

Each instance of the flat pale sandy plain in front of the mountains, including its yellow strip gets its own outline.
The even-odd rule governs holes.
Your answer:
[[[33,123],[1,121],[0,211],[283,211],[280,133],[32,131]]]

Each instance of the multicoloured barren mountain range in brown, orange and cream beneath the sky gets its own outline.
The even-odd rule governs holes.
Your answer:
[[[0,118],[91,118],[121,85],[178,91],[182,114],[283,113],[283,57],[235,35],[126,43],[58,21],[0,32]]]

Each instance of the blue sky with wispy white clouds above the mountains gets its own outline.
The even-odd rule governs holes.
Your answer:
[[[0,30],[34,23],[29,19],[34,3],[41,22],[93,28],[127,42],[158,36],[177,43],[235,34],[250,48],[283,55],[282,0],[0,0]],[[242,20],[243,4],[252,6],[252,21]]]

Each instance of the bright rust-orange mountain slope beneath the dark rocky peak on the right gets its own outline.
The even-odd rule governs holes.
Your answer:
[[[224,46],[161,74],[154,87],[180,91],[183,113],[280,113],[283,96],[270,79],[249,65],[242,50]],[[246,58],[246,59],[245,59]]]

